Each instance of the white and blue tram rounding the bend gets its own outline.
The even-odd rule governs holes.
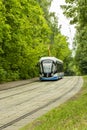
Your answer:
[[[58,80],[63,78],[63,61],[56,57],[42,57],[39,60],[40,80]]]

